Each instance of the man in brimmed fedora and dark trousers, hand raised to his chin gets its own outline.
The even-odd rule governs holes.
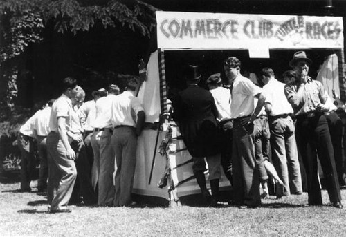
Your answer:
[[[334,149],[324,115],[329,111],[326,104],[328,96],[322,83],[308,76],[311,63],[304,51],[293,55],[289,65],[295,70],[296,78],[295,82],[286,84],[284,92],[297,119],[297,144],[307,173],[309,205],[322,205],[317,169],[318,155],[331,205],[343,208]]]

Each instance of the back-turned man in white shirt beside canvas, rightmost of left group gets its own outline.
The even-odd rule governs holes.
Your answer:
[[[140,135],[145,122],[143,106],[134,92],[138,79],[131,78],[127,82],[126,91],[113,99],[111,106],[111,122],[114,133],[111,146],[116,157],[116,193],[114,206],[129,206],[131,190],[136,168],[137,137]]]

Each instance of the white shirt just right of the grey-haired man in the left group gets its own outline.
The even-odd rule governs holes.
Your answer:
[[[89,100],[82,104],[78,109],[78,116],[83,126],[84,131],[93,131],[91,123],[96,118],[96,102],[94,99]]]

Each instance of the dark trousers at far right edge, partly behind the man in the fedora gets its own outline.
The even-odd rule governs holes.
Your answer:
[[[331,111],[325,117],[328,122],[331,143],[333,144],[339,184],[343,186],[345,185],[345,180],[343,180],[343,121],[334,111]]]

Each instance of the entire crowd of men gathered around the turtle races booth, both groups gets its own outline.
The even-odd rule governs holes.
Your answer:
[[[231,205],[259,207],[268,195],[269,177],[275,179],[277,198],[302,194],[302,167],[309,205],[322,205],[319,158],[331,205],[343,208],[343,122],[322,84],[308,76],[311,63],[304,51],[296,52],[289,61],[293,70],[283,75],[285,83],[275,79],[271,68],[263,68],[261,88],[241,75],[237,57],[228,57],[223,65],[226,79],[221,73],[210,75],[206,81],[210,91],[199,86],[198,66],[185,68],[188,88],[176,95],[172,117],[192,155],[193,173],[207,205],[217,207],[221,167],[233,187]],[[107,91],[93,91],[93,99],[84,103],[85,93],[77,81],[65,78],[62,95],[51,99],[19,131],[21,189],[31,190],[36,138],[37,188],[48,191],[48,211],[71,212],[67,205],[73,202],[134,205],[136,145],[145,122],[134,93],[137,86],[132,77],[121,94],[111,84]]]

